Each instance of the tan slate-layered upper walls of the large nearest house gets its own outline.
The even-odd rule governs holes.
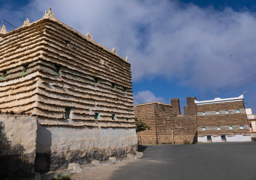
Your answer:
[[[0,110],[67,125],[69,107],[75,126],[135,127],[129,62],[51,17],[0,37]]]

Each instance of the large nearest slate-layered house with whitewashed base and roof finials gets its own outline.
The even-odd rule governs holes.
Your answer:
[[[131,65],[54,13],[0,34],[0,176],[136,153]]]

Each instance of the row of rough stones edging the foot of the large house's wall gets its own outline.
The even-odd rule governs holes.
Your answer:
[[[85,164],[85,165],[80,165],[79,163],[70,163],[68,166],[68,169],[65,170],[56,170],[56,171],[51,171],[47,172],[44,174],[41,174],[41,180],[48,180],[51,178],[56,177],[58,174],[60,175],[70,175],[71,173],[79,173],[79,172],[84,172],[90,169],[94,169],[97,167],[105,166],[105,165],[111,165],[111,164],[117,164],[117,163],[122,163],[124,161],[129,161],[133,159],[139,159],[143,157],[143,152],[138,152],[137,155],[132,155],[132,154],[127,154],[127,157],[116,159],[116,157],[109,157],[109,160],[106,161],[99,161],[99,160],[93,160],[91,164]],[[30,177],[30,179],[38,180],[35,178]]]

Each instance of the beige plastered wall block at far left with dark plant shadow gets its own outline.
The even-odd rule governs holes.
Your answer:
[[[0,114],[0,126],[0,177],[30,176],[35,164],[36,117]]]

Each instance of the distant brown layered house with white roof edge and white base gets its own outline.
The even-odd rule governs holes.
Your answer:
[[[197,101],[198,142],[251,141],[243,95]]]

